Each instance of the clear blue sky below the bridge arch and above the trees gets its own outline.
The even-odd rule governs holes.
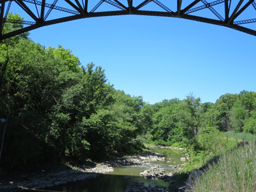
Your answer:
[[[256,11],[252,14],[256,18]],[[256,37],[230,28],[126,15],[75,20],[30,34],[46,47],[71,49],[82,65],[102,66],[115,89],[151,104],[189,93],[216,102],[225,93],[256,91]]]

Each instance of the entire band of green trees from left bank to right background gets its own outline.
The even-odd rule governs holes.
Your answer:
[[[7,23],[3,32],[22,27]],[[208,133],[256,132],[255,92],[149,105],[115,90],[100,66],[84,67],[71,50],[44,48],[28,35],[0,43],[2,169],[102,159],[138,151],[145,141],[208,150]]]

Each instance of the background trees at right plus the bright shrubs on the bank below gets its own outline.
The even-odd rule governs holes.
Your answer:
[[[200,168],[210,158],[238,145],[237,139],[221,131],[254,133],[254,104],[254,92],[249,91],[222,95],[216,103],[201,103],[193,95],[183,101],[156,103],[152,106],[152,141],[178,143],[190,157],[185,170]]]

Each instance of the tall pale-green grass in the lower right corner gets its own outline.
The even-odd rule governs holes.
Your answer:
[[[256,191],[255,157],[254,143],[225,152],[195,181],[192,191]]]

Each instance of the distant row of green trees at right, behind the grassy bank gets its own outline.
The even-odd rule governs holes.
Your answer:
[[[200,98],[164,100],[150,106],[152,140],[158,144],[191,143],[205,129],[222,132],[256,133],[256,93],[224,94],[216,103],[201,103]]]

